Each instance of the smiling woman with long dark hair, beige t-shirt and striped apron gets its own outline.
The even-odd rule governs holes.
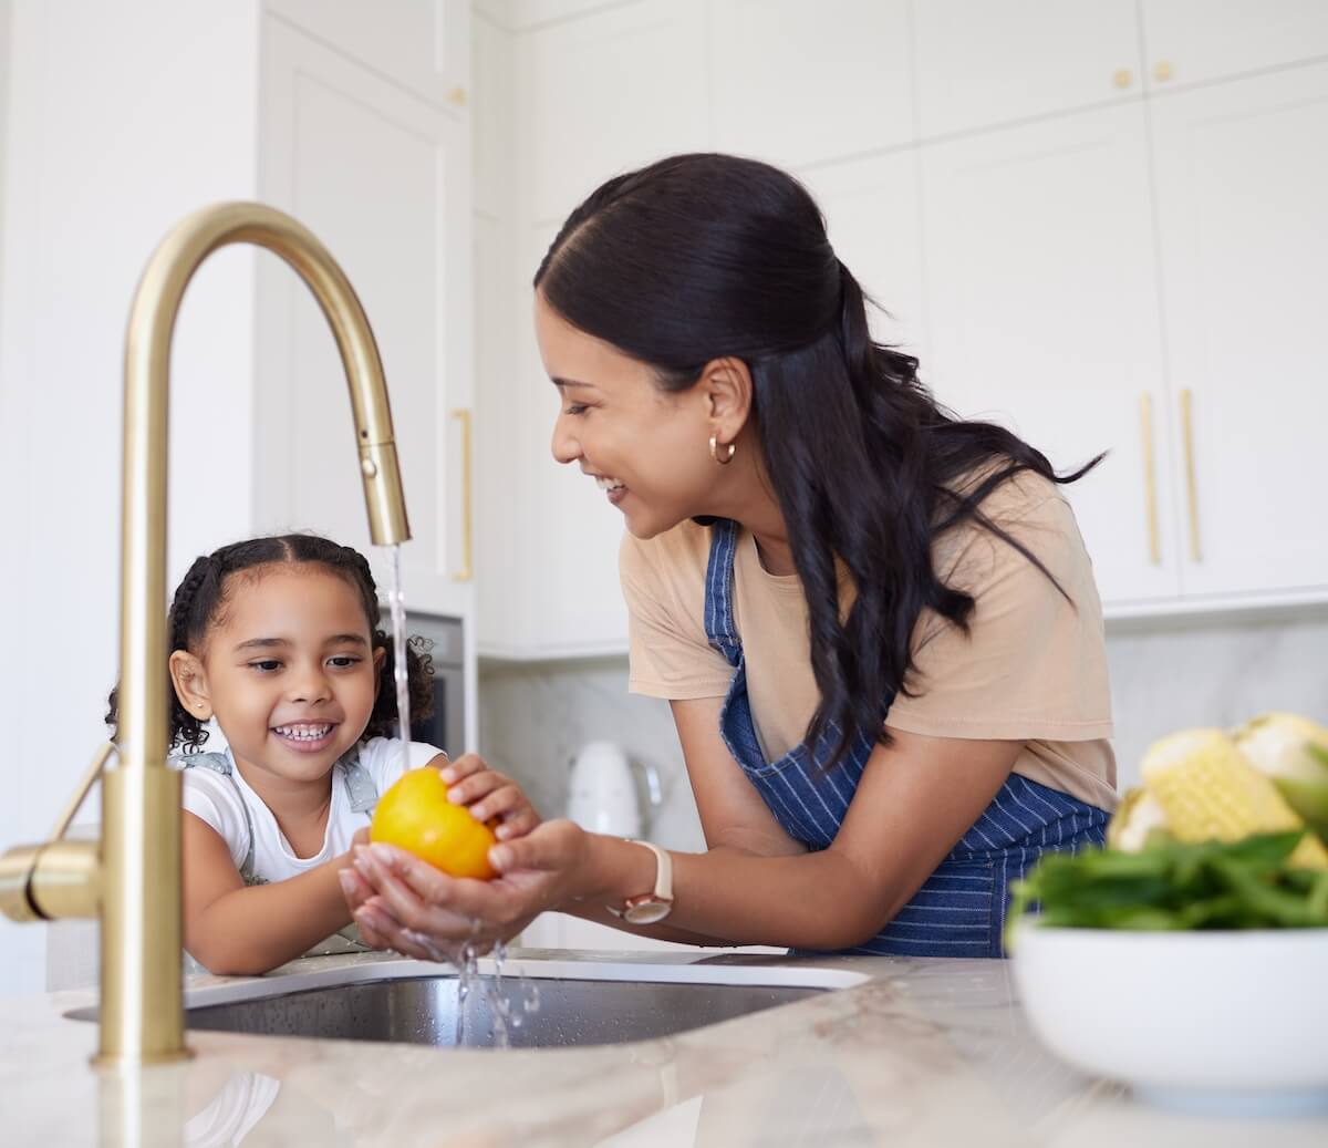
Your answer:
[[[361,931],[424,957],[560,909],[706,945],[1001,955],[1011,881],[1100,844],[1114,801],[1101,607],[1058,490],[1089,468],[938,407],[872,343],[807,193],[753,161],[596,190],[535,275],[535,328],[554,454],[625,518],[629,687],[672,703],[708,850],[551,821],[485,885],[374,846],[348,882]]]

